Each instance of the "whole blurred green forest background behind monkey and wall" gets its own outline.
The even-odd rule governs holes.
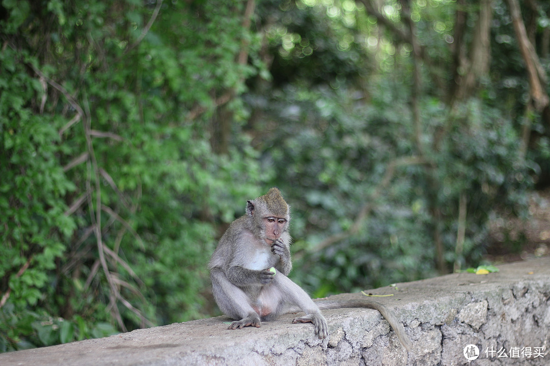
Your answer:
[[[313,296],[544,254],[549,53],[542,0],[2,0],[0,351],[219,314],[272,186]]]

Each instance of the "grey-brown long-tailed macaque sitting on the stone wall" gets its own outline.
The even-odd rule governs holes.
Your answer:
[[[313,323],[320,339],[328,335],[327,320],[319,309],[367,307],[378,310],[410,351],[403,325],[386,307],[364,300],[317,300],[290,280],[290,206],[277,188],[246,204],[244,216],[233,221],[219,240],[210,260],[214,299],[221,311],[236,319],[228,329],[260,327],[280,314],[303,311],[293,323]],[[271,267],[276,268],[273,271]]]

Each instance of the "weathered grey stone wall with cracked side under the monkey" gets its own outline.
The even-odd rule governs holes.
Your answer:
[[[292,314],[242,330],[227,330],[228,319],[218,317],[4,353],[0,365],[453,366],[468,363],[470,344],[480,353],[472,365],[550,365],[550,258],[499,268],[367,291],[394,294],[377,300],[405,324],[414,354],[377,311],[335,309],[323,311],[331,331],[325,340],[311,324],[291,324]]]

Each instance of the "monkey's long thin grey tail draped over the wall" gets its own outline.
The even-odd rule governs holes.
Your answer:
[[[405,333],[403,324],[397,320],[395,315],[388,310],[388,308],[379,302],[367,300],[367,299],[346,299],[344,300],[329,300],[329,299],[315,299],[313,302],[320,309],[341,309],[351,307],[362,307],[378,310],[384,318],[392,326],[393,331],[397,334],[397,337],[405,349],[412,352],[412,342],[409,336]]]

